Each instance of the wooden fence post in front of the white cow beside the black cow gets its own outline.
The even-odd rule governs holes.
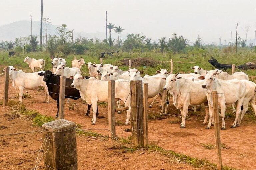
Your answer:
[[[116,137],[116,119],[115,119],[115,80],[108,81],[108,140]],[[110,136],[112,136],[110,138]]]

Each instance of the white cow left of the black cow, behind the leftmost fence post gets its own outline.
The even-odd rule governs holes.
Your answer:
[[[39,86],[44,87],[45,98],[43,102],[49,103],[50,96],[46,83],[43,81],[43,78],[38,75],[38,73],[43,73],[44,71],[38,71],[34,73],[25,73],[22,70],[17,71],[13,66],[9,66],[9,78],[12,81],[12,87],[18,89],[19,92],[19,102],[22,103],[22,96],[24,89],[35,89]],[[5,70],[5,69],[4,69]]]

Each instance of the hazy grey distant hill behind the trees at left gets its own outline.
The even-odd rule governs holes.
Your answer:
[[[48,27],[48,34],[50,35],[56,35],[56,28],[59,27],[58,25],[50,25]],[[70,28],[69,28],[70,29]],[[70,29],[72,30],[72,29]],[[33,35],[40,35],[40,22],[39,21],[32,21],[32,32]],[[2,25],[0,26],[0,41],[10,41],[15,40],[15,38],[19,37],[28,37],[31,34],[31,22],[30,21],[17,21],[11,24]],[[43,34],[45,34],[43,32]],[[109,35],[109,34],[108,34]],[[95,40],[100,39],[101,41],[105,39],[105,33],[104,32],[98,32],[98,33],[86,33],[86,32],[75,32],[74,30],[74,39],[77,37],[85,37],[87,39],[93,39]],[[118,34],[112,32],[113,39],[118,38]],[[126,38],[126,34],[122,33],[120,35],[120,39]]]

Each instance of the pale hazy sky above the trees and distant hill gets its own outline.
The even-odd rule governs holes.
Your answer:
[[[0,0],[0,26],[20,20],[40,20],[40,0]],[[254,0],[43,0],[43,17],[54,25],[67,24],[75,32],[105,32],[108,23],[121,26],[124,34],[142,32],[154,40],[175,32],[194,42],[201,31],[204,42],[225,44],[230,32],[245,39],[242,29],[250,25],[247,40],[254,39]]]

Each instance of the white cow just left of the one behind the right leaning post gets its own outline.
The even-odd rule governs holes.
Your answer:
[[[185,128],[185,118],[188,113],[189,105],[201,105],[204,103],[205,118],[203,124],[206,124],[209,109],[206,97],[206,89],[201,88],[203,80],[189,82],[184,78],[178,78],[178,74],[170,74],[166,78],[164,90],[173,91],[173,105],[180,110],[182,122],[180,128]]]

